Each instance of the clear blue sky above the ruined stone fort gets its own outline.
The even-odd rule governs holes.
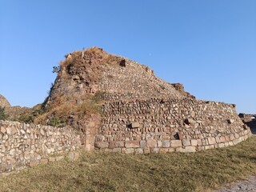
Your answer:
[[[43,102],[52,67],[90,46],[256,113],[255,0],[0,0],[0,94],[13,106]]]

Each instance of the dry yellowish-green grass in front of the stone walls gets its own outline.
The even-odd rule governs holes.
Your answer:
[[[0,191],[210,191],[256,174],[256,137],[193,154],[81,152],[0,178]]]

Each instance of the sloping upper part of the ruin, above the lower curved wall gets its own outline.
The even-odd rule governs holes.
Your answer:
[[[100,94],[107,101],[186,97],[155,76],[148,66],[108,54],[98,47],[66,55],[50,90],[47,106],[70,101],[80,103],[89,93]]]

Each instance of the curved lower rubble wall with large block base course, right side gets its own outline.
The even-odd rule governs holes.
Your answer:
[[[194,99],[106,102],[95,138],[100,150],[194,152],[233,146],[251,135],[235,106]]]

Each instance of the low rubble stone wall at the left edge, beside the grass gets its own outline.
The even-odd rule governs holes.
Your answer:
[[[80,136],[68,128],[0,121],[0,173],[58,160],[77,150]]]

